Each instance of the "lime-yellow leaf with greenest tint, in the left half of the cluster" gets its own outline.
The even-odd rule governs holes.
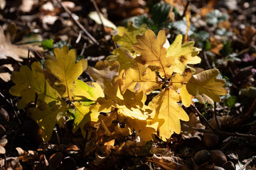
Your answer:
[[[75,105],[75,120],[73,124],[73,132],[81,129],[83,137],[85,137],[85,124],[90,121],[97,122],[99,112],[90,110],[90,106],[97,101],[97,98],[104,97],[103,91],[99,84],[95,82],[83,82],[81,80],[75,81],[73,84],[73,99]]]

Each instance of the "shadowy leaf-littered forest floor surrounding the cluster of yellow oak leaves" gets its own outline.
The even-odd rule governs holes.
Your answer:
[[[1,0],[0,8],[0,169],[256,169],[256,1]],[[178,34],[194,41],[196,72],[217,68],[228,94],[183,107],[190,120],[166,141],[140,143],[134,132],[95,145],[67,118],[43,142],[28,116],[36,103],[18,109],[21,97],[9,93],[12,72],[43,64],[63,45],[95,67],[117,48],[114,29],[129,21],[156,35],[164,29],[170,43]],[[79,79],[93,81],[87,71]]]

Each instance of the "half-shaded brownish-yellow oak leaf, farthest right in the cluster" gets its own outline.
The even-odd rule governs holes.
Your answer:
[[[217,79],[218,74],[218,69],[209,69],[193,75],[186,86],[188,93],[203,103],[220,102],[220,95],[226,95],[228,92],[223,88],[225,81]]]

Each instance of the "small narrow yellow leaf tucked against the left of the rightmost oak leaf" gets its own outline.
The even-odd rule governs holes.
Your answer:
[[[181,101],[186,107],[191,105],[191,95],[188,94],[188,90],[186,89],[186,85],[188,84],[188,81],[191,79],[191,77],[191,69],[185,69],[183,74],[174,74],[170,81],[170,86],[174,90],[179,91],[179,94],[181,95]]]

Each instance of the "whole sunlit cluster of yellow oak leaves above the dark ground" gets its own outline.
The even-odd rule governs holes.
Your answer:
[[[129,23],[119,27],[113,40],[121,47],[107,60],[87,67],[87,61],[76,62],[75,50],[55,48],[54,56],[46,60],[46,70],[34,62],[31,69],[21,67],[11,79],[16,84],[10,89],[21,96],[18,108],[35,102],[28,112],[43,130],[43,140],[50,140],[55,123],[63,125],[73,109],[73,132],[81,129],[85,137],[85,124],[97,122],[99,134],[114,139],[129,135],[134,130],[142,140],[158,134],[162,140],[181,131],[180,120],[188,121],[183,106],[191,105],[191,96],[201,102],[219,102],[225,81],[217,79],[218,69],[193,75],[187,64],[201,62],[194,42],[182,43],[182,35],[166,48],[166,35],[160,30],[157,38],[146,26],[136,28]],[[83,82],[80,74],[87,72],[95,82]],[[159,91],[149,105],[146,95]],[[100,114],[105,113],[105,115]],[[99,134],[97,136],[99,136]]]

